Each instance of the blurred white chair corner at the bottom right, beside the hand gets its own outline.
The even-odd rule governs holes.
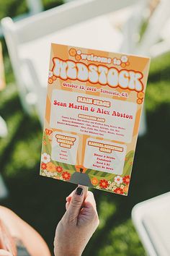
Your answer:
[[[170,192],[138,203],[132,211],[135,229],[149,256],[170,255]]]

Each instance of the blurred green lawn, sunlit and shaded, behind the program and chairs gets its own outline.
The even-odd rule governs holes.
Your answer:
[[[62,1],[43,1],[50,9]],[[0,19],[27,12],[22,0],[0,0]],[[0,171],[9,189],[1,205],[14,210],[42,234],[53,250],[55,226],[65,212],[74,184],[39,176],[42,129],[36,116],[24,114],[4,39],[1,38],[6,89],[0,92],[0,115],[9,135],[0,139]],[[138,138],[128,197],[94,189],[100,225],[84,256],[144,256],[130,214],[133,206],[169,191],[170,54],[151,60],[146,91],[148,132]]]

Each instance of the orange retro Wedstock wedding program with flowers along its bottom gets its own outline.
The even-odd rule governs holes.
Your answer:
[[[40,175],[128,195],[149,65],[52,43]]]

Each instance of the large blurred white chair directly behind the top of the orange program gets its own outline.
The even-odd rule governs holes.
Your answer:
[[[31,113],[32,106],[36,106],[43,124],[51,42],[104,51],[123,51],[124,46],[124,52],[127,52],[127,41],[132,41],[126,31],[129,27],[125,25],[123,33],[120,33],[104,14],[114,12],[116,17],[116,11],[130,7],[125,9],[125,24],[130,20],[130,30],[133,33],[138,29],[141,10],[147,2],[148,0],[72,1],[19,22],[12,22],[9,17],[4,18],[1,25],[25,111]],[[141,121],[141,124],[140,130],[144,132],[145,121]]]

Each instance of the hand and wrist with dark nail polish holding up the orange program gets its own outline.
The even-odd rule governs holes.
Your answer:
[[[79,186],[67,197],[66,213],[55,231],[55,256],[80,256],[99,225],[92,192]]]

